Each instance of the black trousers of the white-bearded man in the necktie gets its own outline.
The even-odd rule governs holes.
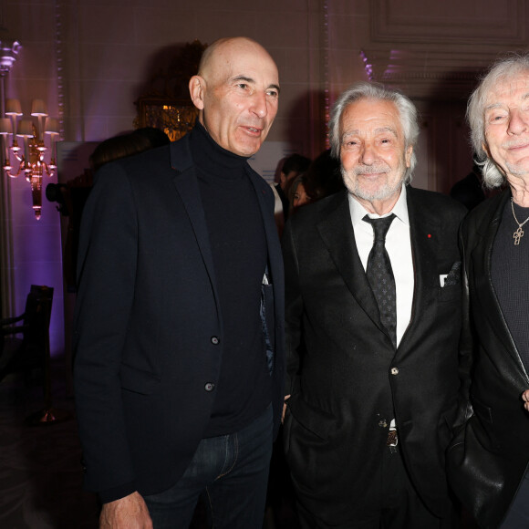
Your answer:
[[[347,472],[344,469],[344,472]],[[362,498],[351,498],[355,515],[346,524],[332,525],[333,529],[453,529],[458,527],[455,510],[451,508],[445,518],[434,516],[421,502],[410,482],[399,450],[389,447],[380,459],[377,505],[363,503]],[[330,529],[330,525],[317,518],[297,503],[302,529]]]

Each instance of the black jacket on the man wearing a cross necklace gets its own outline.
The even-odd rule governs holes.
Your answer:
[[[485,528],[501,524],[529,461],[529,417],[521,399],[529,378],[491,276],[494,238],[510,198],[506,190],[482,202],[469,213],[461,233],[463,391],[448,469],[452,488]],[[526,270],[520,279],[527,281]]]

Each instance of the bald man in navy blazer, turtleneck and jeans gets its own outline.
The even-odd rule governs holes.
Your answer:
[[[206,49],[182,140],[98,174],[79,244],[75,389],[101,527],[261,528],[283,402],[274,196],[247,163],[272,125],[275,62]]]

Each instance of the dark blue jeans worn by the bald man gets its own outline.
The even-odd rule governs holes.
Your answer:
[[[145,496],[154,529],[189,529],[201,494],[210,527],[261,529],[272,430],[270,405],[243,430],[202,439],[180,481]]]

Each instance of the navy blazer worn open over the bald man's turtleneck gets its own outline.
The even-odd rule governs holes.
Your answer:
[[[269,185],[247,166],[265,225],[275,427],[283,400],[284,278]],[[177,482],[212,409],[223,321],[187,137],[110,163],[85,208],[75,389],[86,486],[122,496]]]

